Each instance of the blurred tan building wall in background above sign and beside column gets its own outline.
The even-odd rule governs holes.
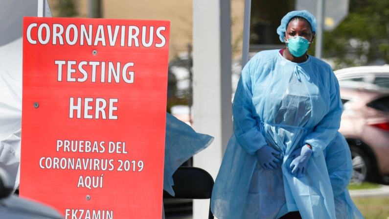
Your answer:
[[[58,16],[55,4],[48,0],[53,16]],[[88,17],[88,0],[76,0],[78,16]],[[192,44],[193,0],[102,0],[102,16],[107,19],[170,20],[169,59],[187,51]],[[243,13],[245,0],[231,0],[232,56],[242,52]],[[206,5],[205,5],[206,7]]]

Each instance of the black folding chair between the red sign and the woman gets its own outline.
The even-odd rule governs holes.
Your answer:
[[[211,198],[214,181],[206,170],[196,167],[180,167],[174,172],[173,181],[175,196],[173,197],[166,191],[163,191],[163,198]],[[213,219],[210,203],[208,219]]]

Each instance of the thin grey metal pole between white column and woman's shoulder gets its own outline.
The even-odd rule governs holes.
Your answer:
[[[244,14],[244,22],[243,22],[242,69],[249,61],[250,15],[251,15],[251,0],[245,0],[245,14]]]

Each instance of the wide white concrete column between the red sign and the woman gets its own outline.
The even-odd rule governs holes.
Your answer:
[[[194,129],[215,137],[194,166],[215,179],[231,136],[231,2],[193,0]],[[209,200],[195,200],[193,219],[207,218]]]

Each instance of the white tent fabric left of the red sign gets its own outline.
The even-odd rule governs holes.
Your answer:
[[[22,127],[23,17],[37,17],[38,1],[0,0],[0,167],[15,179],[16,187]],[[45,1],[45,17],[51,17]]]

